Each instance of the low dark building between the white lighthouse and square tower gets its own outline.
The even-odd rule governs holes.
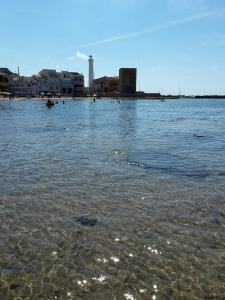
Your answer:
[[[107,96],[107,94],[118,94],[119,77],[101,77],[93,81],[93,90],[97,95]]]

